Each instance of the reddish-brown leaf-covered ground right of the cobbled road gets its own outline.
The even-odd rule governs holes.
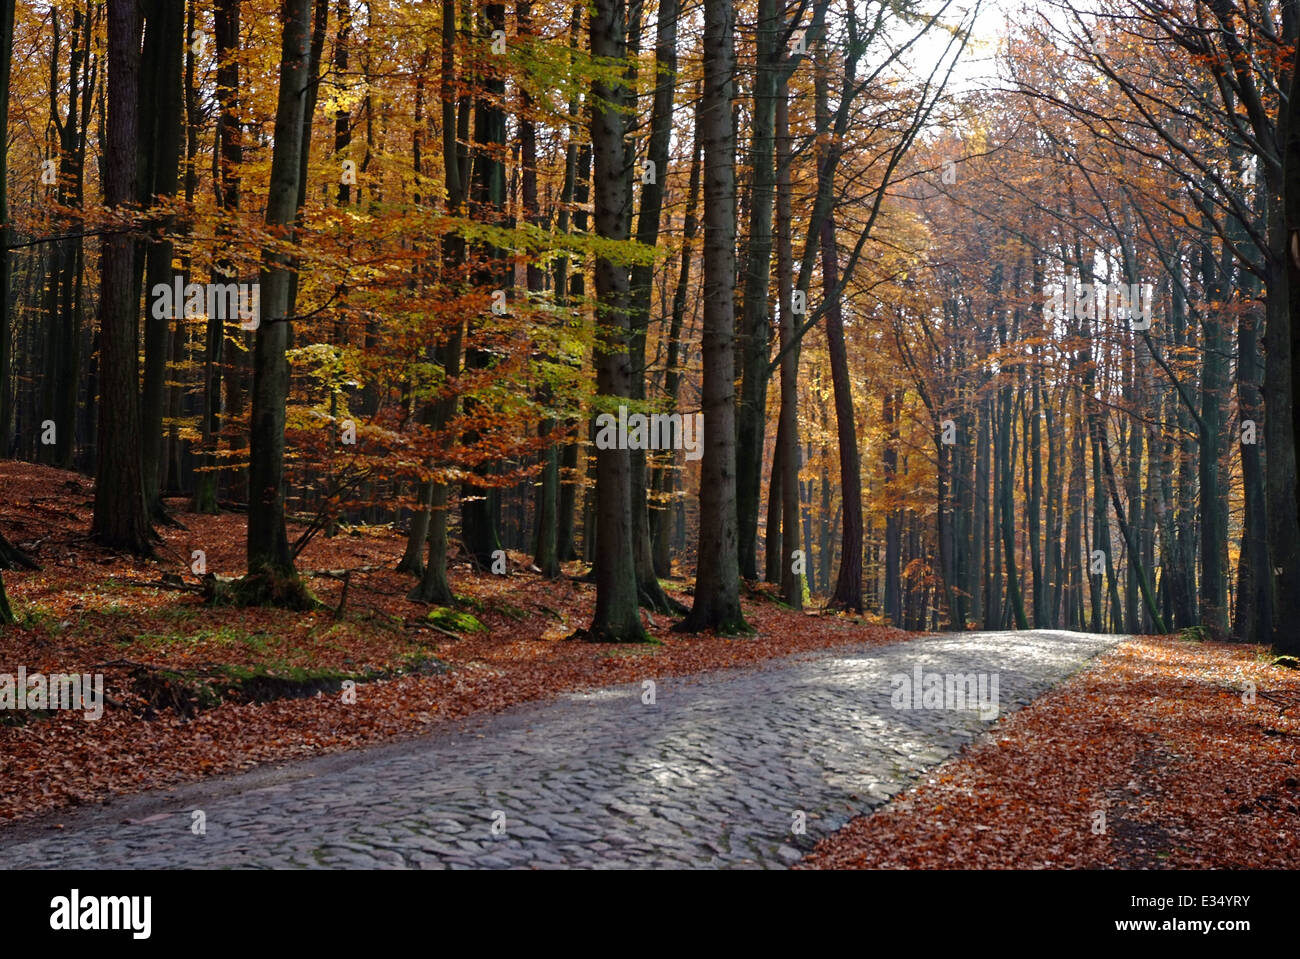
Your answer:
[[[1300,868],[1300,672],[1270,660],[1123,642],[803,868]]]

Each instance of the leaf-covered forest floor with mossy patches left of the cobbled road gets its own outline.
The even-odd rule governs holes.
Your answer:
[[[87,539],[92,483],[77,473],[0,461],[0,531],[40,572],[5,574],[20,625],[4,630],[0,674],[101,673],[103,717],[81,711],[0,711],[0,821],[101,802],[250,767],[428,732],[480,711],[911,634],[857,617],[794,612],[763,593],[745,596],[755,635],[670,632],[656,645],[569,639],[592,619],[595,589],[526,570],[508,576],[452,564],[456,609],[411,603],[394,572],[404,537],[391,528],[318,535],[298,559],[315,612],[207,606],[186,587],[202,550],[209,573],[243,569],[244,517],[200,516],[169,500],[178,528],[159,528],[159,561],[107,552]],[[298,533],[290,525],[290,539]],[[337,615],[343,582],[347,602]],[[329,574],[312,574],[312,573]],[[569,574],[581,573],[571,564]],[[162,577],[168,576],[166,582]],[[685,582],[664,582],[690,604]],[[181,589],[178,589],[181,587]],[[434,629],[433,626],[438,626]],[[344,702],[343,684],[367,708]]]

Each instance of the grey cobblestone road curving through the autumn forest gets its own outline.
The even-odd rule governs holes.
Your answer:
[[[894,708],[892,676],[996,673],[1005,716],[1119,639],[966,633],[655,680],[654,704],[569,694],[0,829],[0,868],[785,868],[988,729]]]

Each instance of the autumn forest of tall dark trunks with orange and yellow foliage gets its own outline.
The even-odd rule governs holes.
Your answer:
[[[594,583],[601,642],[744,635],[766,591],[1300,651],[1296,0],[0,34],[0,457],[208,602],[309,609],[304,548],[384,529],[412,603],[524,567]],[[240,568],[162,548],[217,515]]]

